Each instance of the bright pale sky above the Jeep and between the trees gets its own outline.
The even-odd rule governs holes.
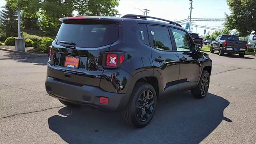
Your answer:
[[[6,2],[0,0],[0,6],[4,6]],[[189,0],[120,0],[117,10],[122,16],[125,14],[143,15],[143,10],[150,10],[148,16],[163,18],[166,20],[178,21],[188,18],[190,15]],[[230,14],[226,0],[193,0],[192,18],[225,18],[225,13]],[[76,12],[74,12],[76,13]],[[200,22],[195,21],[196,25],[212,28],[224,28],[223,22]],[[194,23],[193,23],[194,24]],[[193,32],[204,35],[204,28],[196,28],[192,26]],[[206,29],[206,33],[214,32],[214,30]]]

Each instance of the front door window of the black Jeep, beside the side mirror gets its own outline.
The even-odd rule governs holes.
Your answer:
[[[190,51],[188,33],[172,28],[172,33],[178,51]]]

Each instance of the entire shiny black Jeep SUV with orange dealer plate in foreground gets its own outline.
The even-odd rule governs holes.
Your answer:
[[[212,60],[180,24],[140,15],[60,21],[45,86],[62,104],[122,111],[128,124],[144,127],[159,99],[184,90],[206,96]]]

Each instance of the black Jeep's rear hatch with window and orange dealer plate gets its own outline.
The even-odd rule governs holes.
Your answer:
[[[104,72],[102,54],[119,39],[118,19],[62,18],[52,43],[48,76],[77,85],[99,86]]]

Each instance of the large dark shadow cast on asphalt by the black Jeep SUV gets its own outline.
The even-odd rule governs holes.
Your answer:
[[[104,113],[88,108],[64,107],[48,119],[49,128],[68,143],[199,143],[222,120],[229,102],[208,93],[193,98],[190,91],[158,100],[154,118],[145,128],[122,122],[120,112]]]

